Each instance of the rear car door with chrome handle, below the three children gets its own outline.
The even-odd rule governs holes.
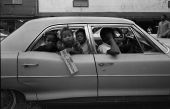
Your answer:
[[[86,25],[79,26],[87,30]],[[86,35],[88,39],[87,31]],[[78,68],[78,72],[74,75],[70,73],[59,53],[20,52],[18,79],[23,84],[33,87],[39,100],[96,97],[97,74],[93,55],[76,54],[71,57]]]

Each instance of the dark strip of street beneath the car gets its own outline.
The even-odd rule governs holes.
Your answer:
[[[28,109],[170,109],[169,103],[33,104]],[[15,109],[21,109],[17,107]]]

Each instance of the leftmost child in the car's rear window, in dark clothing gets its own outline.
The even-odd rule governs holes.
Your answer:
[[[56,48],[58,40],[59,39],[54,33],[48,32],[46,33],[44,44],[36,48],[35,51],[56,52],[58,51]]]

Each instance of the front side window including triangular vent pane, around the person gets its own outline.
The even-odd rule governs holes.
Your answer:
[[[160,49],[149,39],[145,37],[144,34],[135,30],[131,26],[119,26],[119,25],[101,25],[92,26],[92,34],[95,43],[95,48],[97,53],[100,52],[101,46],[107,46],[105,48],[109,49],[109,44],[103,42],[101,38],[102,28],[111,28],[114,34],[114,40],[118,45],[120,52],[125,53],[154,53],[161,52]]]

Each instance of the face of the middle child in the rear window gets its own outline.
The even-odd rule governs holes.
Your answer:
[[[74,38],[70,31],[67,30],[62,33],[62,41],[65,44],[71,44],[73,42],[73,40],[74,40]]]

